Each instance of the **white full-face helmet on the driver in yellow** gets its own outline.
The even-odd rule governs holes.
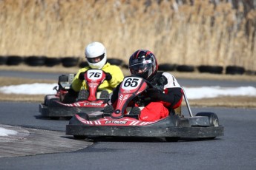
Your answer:
[[[101,69],[107,61],[107,52],[104,45],[99,42],[88,44],[85,48],[85,58],[92,69]],[[99,58],[100,61],[95,61],[95,58]]]

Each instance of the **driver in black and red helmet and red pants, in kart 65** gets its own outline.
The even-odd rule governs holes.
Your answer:
[[[144,78],[153,85],[142,93],[146,100],[145,107],[139,111],[139,119],[152,121],[174,114],[174,109],[183,101],[183,90],[173,75],[168,72],[157,72],[158,64],[155,55],[148,50],[137,50],[129,59],[129,69],[132,76]],[[114,107],[119,86],[116,86],[111,96]]]

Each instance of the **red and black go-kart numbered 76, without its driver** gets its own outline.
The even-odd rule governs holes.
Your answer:
[[[39,112],[42,117],[53,119],[71,118],[76,112],[96,112],[104,109],[108,102],[107,90],[98,91],[98,87],[105,81],[105,72],[101,69],[88,69],[85,72],[86,89],[79,92],[73,103],[63,103],[63,98],[70,89],[74,74],[60,75],[56,89],[56,95],[45,95],[45,102],[39,104]]]

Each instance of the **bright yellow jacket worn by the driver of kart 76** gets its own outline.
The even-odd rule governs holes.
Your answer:
[[[73,78],[73,82],[71,84],[72,89],[75,92],[79,92],[81,89],[88,89],[88,87],[85,84],[85,81],[81,81],[79,79],[79,74],[81,72],[85,72],[88,69],[91,69],[91,67],[85,67],[82,69],[79,69],[79,71],[76,73],[76,76]],[[110,81],[103,81],[102,84],[99,85],[98,90],[102,91],[103,89],[108,90],[109,93],[113,91],[113,89],[120,83],[122,82],[124,75],[122,73],[122,70],[116,66],[116,65],[111,65],[108,62],[102,67],[102,70],[104,72],[108,72],[112,75],[112,78]]]

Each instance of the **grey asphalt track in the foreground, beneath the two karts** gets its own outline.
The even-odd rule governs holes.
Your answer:
[[[73,140],[65,136],[68,120],[41,118],[38,103],[0,102],[0,108],[1,126],[29,132],[27,137],[24,135],[19,140],[19,145],[10,139],[1,140],[0,151],[5,146],[22,151],[22,144],[29,143],[28,140],[37,134],[36,130],[44,131],[48,137],[47,146],[53,146],[43,147],[52,150],[48,153],[2,156],[0,169],[255,169],[256,166],[256,109],[192,107],[194,114],[217,113],[225,132],[223,137],[215,140],[184,139],[168,143],[163,138],[94,138],[76,141],[77,145],[84,143],[82,149],[78,147],[63,152],[65,147],[61,147],[62,151],[58,152],[60,146],[56,140],[59,144],[63,144],[63,140],[68,140],[68,143]],[[185,107],[183,114],[188,114]],[[56,137],[54,143],[49,136]],[[40,139],[45,140],[44,137]],[[30,141],[31,152],[41,145],[40,140],[34,141]]]

